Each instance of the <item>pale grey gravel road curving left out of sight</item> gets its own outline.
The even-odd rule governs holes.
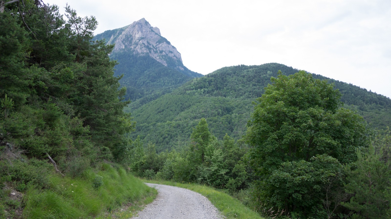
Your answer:
[[[171,185],[145,183],[159,191],[158,197],[134,219],[221,219],[210,201],[199,193]]]

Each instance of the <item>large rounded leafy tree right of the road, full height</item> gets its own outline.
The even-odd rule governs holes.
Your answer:
[[[325,217],[323,187],[339,177],[340,163],[355,161],[355,150],[366,146],[362,117],[339,108],[339,91],[304,71],[271,81],[257,99],[247,136],[260,177],[255,195],[300,217]]]

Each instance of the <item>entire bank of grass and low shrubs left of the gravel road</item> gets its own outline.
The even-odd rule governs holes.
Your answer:
[[[3,170],[18,171],[2,179],[0,218],[126,218],[157,194],[116,164],[101,163],[79,177],[63,177],[52,170],[39,171],[42,165],[34,162],[2,162]],[[39,186],[32,180],[39,178],[38,174],[42,178]],[[13,198],[16,196],[20,199]],[[113,214],[116,212],[121,214]]]

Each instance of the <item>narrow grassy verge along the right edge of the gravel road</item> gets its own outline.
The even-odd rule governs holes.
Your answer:
[[[239,200],[232,196],[216,191],[211,187],[199,184],[182,184],[177,182],[168,181],[156,181],[156,180],[143,180],[144,182],[173,185],[185,189],[190,189],[196,193],[200,193],[212,202],[212,204],[219,209],[219,211],[227,218],[240,218],[240,219],[263,219],[259,214],[246,207]]]

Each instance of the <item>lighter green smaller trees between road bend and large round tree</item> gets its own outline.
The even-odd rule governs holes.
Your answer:
[[[227,134],[224,140],[217,140],[204,118],[194,127],[191,138],[181,152],[156,154],[154,146],[148,144],[139,175],[149,179],[198,182],[231,192],[247,186],[248,166],[242,161],[245,148],[240,149]]]

